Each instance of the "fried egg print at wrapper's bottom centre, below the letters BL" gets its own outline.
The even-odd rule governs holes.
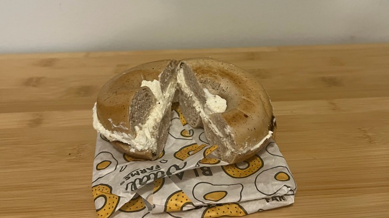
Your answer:
[[[242,199],[242,184],[215,185],[207,182],[199,182],[193,187],[194,199],[203,204],[216,204],[222,199],[228,202],[239,202]]]

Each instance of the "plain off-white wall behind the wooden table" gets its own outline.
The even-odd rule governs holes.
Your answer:
[[[0,53],[389,42],[389,0],[0,0]]]

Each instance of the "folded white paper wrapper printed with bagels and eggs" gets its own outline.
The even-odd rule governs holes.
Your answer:
[[[154,161],[123,154],[98,134],[92,194],[99,218],[244,216],[294,202],[296,183],[274,140],[228,165],[212,154],[217,145],[207,143],[204,130],[174,110]]]

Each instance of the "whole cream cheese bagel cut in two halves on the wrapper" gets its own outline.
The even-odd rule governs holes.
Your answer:
[[[154,160],[167,141],[171,108],[183,125],[203,127],[228,163],[254,155],[276,128],[262,85],[212,58],[150,62],[115,76],[99,92],[93,126],[124,153]]]

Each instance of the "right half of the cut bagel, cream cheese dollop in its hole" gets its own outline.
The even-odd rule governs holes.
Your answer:
[[[185,59],[179,64],[178,84],[184,96],[181,110],[188,123],[204,127],[208,142],[218,145],[215,153],[223,161],[249,158],[275,131],[265,89],[241,68],[211,58]],[[211,109],[217,96],[226,100],[223,111]]]

